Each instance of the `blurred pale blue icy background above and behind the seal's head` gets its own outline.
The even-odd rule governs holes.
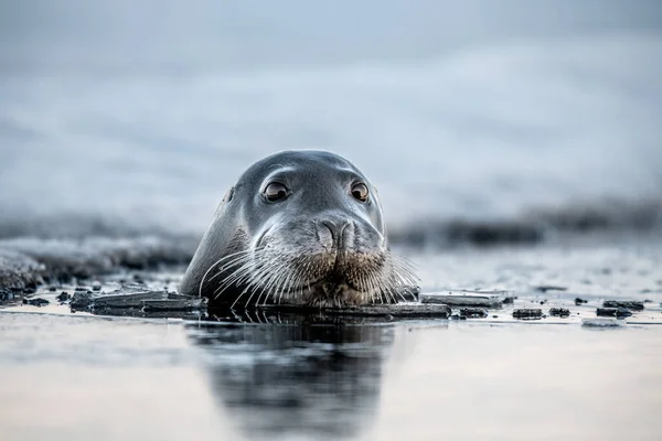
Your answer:
[[[352,160],[392,230],[662,218],[656,0],[3,0],[0,236],[201,234],[250,163]]]

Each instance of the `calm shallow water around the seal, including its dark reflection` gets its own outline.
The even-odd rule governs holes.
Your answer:
[[[573,316],[259,324],[6,305],[2,439],[659,439],[659,241],[409,257],[424,291],[508,289]],[[622,327],[581,326],[604,299],[650,302]]]

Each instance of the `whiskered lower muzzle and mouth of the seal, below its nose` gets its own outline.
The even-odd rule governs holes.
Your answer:
[[[282,252],[265,246],[233,256],[215,273],[214,300],[224,293],[235,304],[265,303],[342,308],[396,303],[416,287],[406,261],[391,251]]]

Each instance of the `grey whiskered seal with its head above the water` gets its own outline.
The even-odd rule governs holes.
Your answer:
[[[376,189],[350,161],[284,151],[227,191],[182,282],[210,305],[339,308],[412,300],[412,265],[391,251]]]

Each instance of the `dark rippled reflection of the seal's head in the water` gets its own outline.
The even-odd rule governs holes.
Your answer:
[[[246,439],[340,440],[374,424],[394,327],[296,319],[185,326],[207,354],[217,405]]]

